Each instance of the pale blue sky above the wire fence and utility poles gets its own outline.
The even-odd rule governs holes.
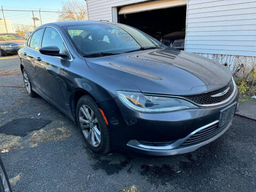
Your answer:
[[[39,10],[42,11],[61,11],[62,1],[64,0],[0,0],[0,6],[3,6],[4,10]],[[84,0],[77,0],[82,1]],[[5,19],[10,19],[13,26],[27,25],[34,26],[32,19],[33,14],[29,12],[17,12],[17,11],[4,11]],[[39,17],[38,12],[34,12],[34,17]],[[42,23],[54,22],[58,19],[58,13],[41,13]],[[3,19],[2,11],[0,12],[0,18]],[[40,21],[35,21],[36,27],[41,25]]]

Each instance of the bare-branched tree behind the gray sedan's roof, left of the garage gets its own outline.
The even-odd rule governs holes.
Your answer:
[[[86,3],[77,0],[62,1],[62,11],[59,21],[87,20]]]

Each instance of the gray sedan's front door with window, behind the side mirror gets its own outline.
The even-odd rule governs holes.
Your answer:
[[[45,28],[41,47],[45,46],[58,46],[60,53],[69,54],[59,31],[54,27]],[[70,65],[70,59],[71,56],[61,58],[39,53],[39,60],[41,61],[37,61],[36,65],[43,94],[63,110],[69,109],[64,68]]]

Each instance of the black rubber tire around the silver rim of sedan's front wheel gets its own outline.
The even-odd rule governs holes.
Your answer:
[[[82,132],[81,125],[79,122],[79,109],[82,105],[86,105],[86,106],[90,107],[98,119],[100,131],[101,131],[101,142],[98,147],[91,146],[91,144],[85,139],[84,134]],[[109,134],[108,126],[107,126],[102,114],[100,113],[99,107],[88,95],[85,95],[81,99],[78,100],[77,107],[76,107],[76,118],[77,118],[77,125],[78,125],[79,129],[81,130],[81,133],[83,135],[83,138],[85,140],[87,147],[89,147],[94,153],[98,153],[98,154],[109,153],[109,151],[110,151],[110,134]]]

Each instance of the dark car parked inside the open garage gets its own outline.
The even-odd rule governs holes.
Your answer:
[[[175,49],[184,50],[185,49],[185,36],[186,31],[175,31],[173,33],[167,34],[162,37],[161,42],[166,46],[173,47]]]

